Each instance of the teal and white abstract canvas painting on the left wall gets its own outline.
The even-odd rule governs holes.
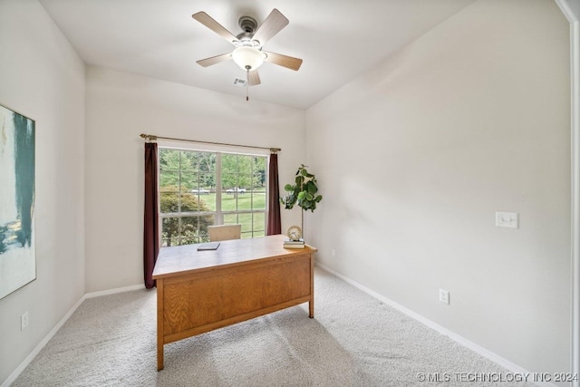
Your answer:
[[[35,278],[34,121],[0,105],[0,298]]]

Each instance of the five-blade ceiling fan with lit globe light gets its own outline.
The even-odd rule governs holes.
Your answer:
[[[240,17],[238,24],[242,29],[242,33],[237,34],[237,36],[227,31],[226,28],[205,12],[198,12],[197,14],[191,15],[191,17],[236,47],[231,53],[222,53],[221,55],[201,59],[197,63],[208,67],[232,59],[247,73],[248,86],[260,84],[260,76],[257,73],[257,69],[264,62],[274,63],[295,71],[302,64],[302,59],[263,50],[267,41],[275,34],[278,34],[289,23],[285,15],[282,15],[275,8],[259,27],[254,18],[249,16]]]

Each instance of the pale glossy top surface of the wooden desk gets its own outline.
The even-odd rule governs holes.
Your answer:
[[[278,256],[298,256],[306,252],[316,252],[310,246],[284,248],[285,235],[255,237],[247,239],[222,240],[217,250],[198,251],[196,245],[161,247],[157,257],[153,278],[179,276],[185,272],[207,269],[215,266],[234,266],[256,259]],[[203,244],[201,244],[203,245]]]

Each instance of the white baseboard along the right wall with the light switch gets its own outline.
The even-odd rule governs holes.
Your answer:
[[[384,304],[390,305],[393,308],[397,309],[398,311],[400,311],[404,314],[407,314],[408,316],[410,316],[414,320],[417,320],[420,323],[427,325],[428,327],[439,332],[440,334],[448,336],[454,342],[459,343],[459,344],[463,345],[464,347],[469,348],[471,351],[480,354],[481,356],[487,358],[488,360],[492,361],[493,363],[497,363],[498,365],[501,365],[502,367],[506,368],[510,372],[520,373],[520,374],[531,374],[532,373],[532,372],[529,372],[526,369],[518,366],[515,363],[509,362],[507,359],[504,359],[503,357],[499,356],[497,353],[492,353],[491,351],[488,351],[487,349],[483,348],[482,346],[478,345],[477,343],[473,343],[473,342],[469,341],[468,339],[466,339],[465,337],[462,337],[459,334],[455,334],[455,333],[449,331],[449,329],[441,326],[440,324],[437,324],[437,323],[431,321],[430,319],[428,319],[428,318],[426,318],[418,313],[411,311],[411,309],[408,309],[402,305],[399,305],[399,304],[395,303],[394,301],[384,297],[383,295],[379,295],[378,293],[369,289],[368,287],[361,285],[356,281],[353,281],[351,278],[349,278],[347,276],[343,276],[342,274],[334,271],[333,269],[331,269],[328,266],[325,266],[325,265],[320,264],[318,262],[316,262],[315,265],[321,267],[322,269],[329,272],[333,276],[337,276],[337,277],[341,278],[344,282],[346,282],[350,285],[353,285],[354,287],[362,290],[364,293],[371,295],[372,297],[378,299],[379,301],[382,301]],[[542,387],[556,387],[556,384],[553,384],[550,382],[537,382],[536,385],[542,386]]]

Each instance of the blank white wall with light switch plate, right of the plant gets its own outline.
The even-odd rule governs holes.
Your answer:
[[[306,113],[317,259],[535,372],[570,369],[568,30],[478,1]]]

